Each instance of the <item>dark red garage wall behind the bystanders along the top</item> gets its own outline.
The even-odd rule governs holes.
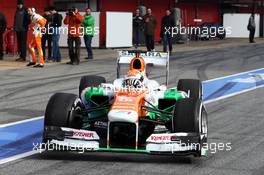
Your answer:
[[[13,26],[14,13],[16,10],[17,0],[0,0],[0,11],[2,11],[7,18],[8,26]],[[37,12],[42,14],[45,6],[50,4],[52,0],[24,0],[26,6],[33,6]],[[106,11],[123,11],[123,12],[135,12],[137,8],[137,0],[101,0],[100,1],[100,46],[105,46],[106,40]],[[142,4],[147,8],[151,8],[153,15],[157,18],[158,27],[156,29],[155,40],[159,40],[160,23],[161,18],[165,15],[165,10],[174,6],[174,0],[141,0]],[[196,17],[195,3],[179,3],[177,7],[181,9],[182,24],[199,25],[193,20]],[[217,4],[198,4],[197,6],[197,18],[201,18],[203,22],[220,22],[219,6]],[[122,24],[120,24],[122,26]]]

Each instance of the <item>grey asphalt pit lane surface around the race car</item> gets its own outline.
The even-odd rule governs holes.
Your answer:
[[[180,78],[201,80],[264,67],[264,46],[176,53],[170,62],[170,85]],[[83,75],[115,78],[115,59],[0,72],[0,123],[44,114],[55,92],[78,93]],[[153,77],[162,79],[159,71]],[[126,153],[36,154],[0,165],[0,174],[264,174],[264,88],[206,105],[209,143],[231,143],[231,151],[208,158],[153,156]]]

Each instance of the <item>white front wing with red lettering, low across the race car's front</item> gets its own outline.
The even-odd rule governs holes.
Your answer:
[[[56,151],[104,151],[133,152],[165,155],[191,155],[201,150],[201,156],[207,156],[207,150],[200,145],[204,136],[196,133],[162,133],[152,134],[146,140],[145,149],[100,147],[100,138],[95,131],[56,127],[44,132],[48,139],[44,150]]]

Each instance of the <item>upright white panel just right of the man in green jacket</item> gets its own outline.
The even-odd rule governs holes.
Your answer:
[[[106,12],[106,47],[132,46],[132,13]]]

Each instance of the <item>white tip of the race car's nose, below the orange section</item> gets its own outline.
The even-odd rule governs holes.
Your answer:
[[[108,113],[110,122],[128,122],[135,123],[138,120],[138,114],[132,110],[111,110]]]

